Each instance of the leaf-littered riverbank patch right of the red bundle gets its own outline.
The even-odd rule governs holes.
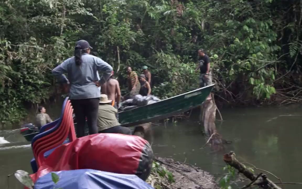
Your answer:
[[[158,189],[218,189],[214,176],[193,165],[171,158],[154,158],[147,183]]]

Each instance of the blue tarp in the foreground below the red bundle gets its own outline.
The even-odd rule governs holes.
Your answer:
[[[55,184],[51,173],[40,177],[35,189],[154,189],[133,174],[117,174],[93,169],[53,172],[59,176]]]

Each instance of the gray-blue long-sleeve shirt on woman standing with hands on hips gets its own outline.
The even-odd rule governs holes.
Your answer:
[[[99,79],[98,71],[103,72]],[[59,80],[66,80],[70,83],[70,99],[99,98],[100,89],[95,85],[99,81],[104,84],[110,77],[112,67],[101,58],[90,54],[82,54],[82,64],[77,66],[75,58],[71,57],[53,69],[52,73]],[[67,77],[63,74],[67,73]]]

